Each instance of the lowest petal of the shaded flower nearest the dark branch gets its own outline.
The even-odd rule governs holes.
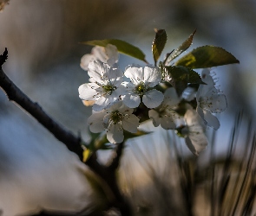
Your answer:
[[[110,143],[121,143],[123,141],[123,130],[121,124],[111,124],[107,130],[107,138]]]

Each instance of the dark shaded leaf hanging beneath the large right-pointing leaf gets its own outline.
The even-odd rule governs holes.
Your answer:
[[[172,86],[174,86],[177,94],[181,96],[182,92],[187,88],[187,84],[204,84],[200,75],[193,69],[183,66],[169,66],[164,67],[165,75],[168,79],[165,79]]]

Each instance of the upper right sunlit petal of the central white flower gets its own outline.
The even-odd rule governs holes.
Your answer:
[[[144,67],[143,82],[149,87],[154,87],[161,82],[161,72],[158,67]]]

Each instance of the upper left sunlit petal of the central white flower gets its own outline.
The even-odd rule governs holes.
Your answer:
[[[135,65],[128,66],[124,75],[131,79],[135,86],[140,84],[144,79],[143,68]]]

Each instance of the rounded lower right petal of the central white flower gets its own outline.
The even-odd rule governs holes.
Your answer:
[[[162,100],[163,100],[162,92],[159,92],[155,89],[146,92],[142,97],[142,102],[148,108],[154,108],[161,105]]]

